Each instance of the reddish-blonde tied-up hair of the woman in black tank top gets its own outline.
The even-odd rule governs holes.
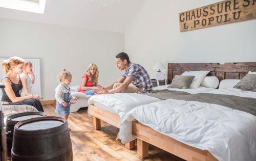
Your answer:
[[[8,74],[12,70],[13,66],[19,65],[19,64],[24,64],[24,60],[22,58],[11,57],[10,59],[2,62],[2,67],[5,73]]]

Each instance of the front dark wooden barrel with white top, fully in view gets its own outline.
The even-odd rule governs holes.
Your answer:
[[[18,122],[14,127],[11,158],[15,160],[73,160],[66,119],[46,116]]]

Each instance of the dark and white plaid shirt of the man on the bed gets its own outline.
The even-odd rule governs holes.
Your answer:
[[[130,63],[127,70],[124,70],[123,77],[131,77],[133,76],[132,84],[141,88],[145,93],[152,92],[152,83],[150,76],[147,74],[146,70],[139,64]]]

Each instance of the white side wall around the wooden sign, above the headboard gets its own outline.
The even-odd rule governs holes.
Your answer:
[[[131,61],[152,69],[167,63],[256,62],[256,19],[181,33],[180,12],[219,0],[147,0],[125,32]],[[165,71],[166,72],[166,71]]]

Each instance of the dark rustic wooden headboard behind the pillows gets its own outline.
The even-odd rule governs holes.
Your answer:
[[[184,71],[209,70],[207,76],[217,76],[219,81],[223,79],[242,79],[248,71],[256,71],[256,62],[246,63],[168,63],[168,84],[175,75],[181,75]]]

